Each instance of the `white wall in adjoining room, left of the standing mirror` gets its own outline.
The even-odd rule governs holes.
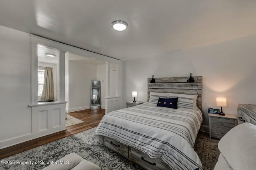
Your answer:
[[[90,109],[91,80],[97,78],[96,65],[69,60],[68,112]]]

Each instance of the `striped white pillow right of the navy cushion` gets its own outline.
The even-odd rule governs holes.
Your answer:
[[[177,109],[193,109],[196,110],[197,95],[184,95],[169,93],[169,98],[178,97]]]

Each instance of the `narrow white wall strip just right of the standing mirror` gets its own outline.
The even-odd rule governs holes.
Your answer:
[[[101,108],[105,109],[106,97],[106,64],[97,65],[97,80],[101,86]]]

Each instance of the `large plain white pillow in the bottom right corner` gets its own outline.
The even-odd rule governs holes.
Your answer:
[[[242,123],[226,133],[218,148],[233,170],[256,169],[256,125]]]

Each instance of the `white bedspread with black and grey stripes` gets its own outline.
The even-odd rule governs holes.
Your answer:
[[[94,134],[108,136],[162,158],[172,170],[202,170],[193,149],[202,123],[198,109],[171,109],[142,104],[112,111],[104,115]]]

